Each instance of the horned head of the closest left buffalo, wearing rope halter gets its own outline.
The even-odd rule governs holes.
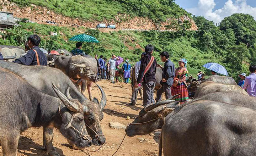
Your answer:
[[[61,116],[61,121],[59,121],[60,132],[79,149],[89,147],[91,138],[84,123],[84,113],[88,112],[88,108],[82,106],[78,100],[71,98],[69,88],[65,96],[54,84],[52,85],[55,93],[64,104],[59,106],[58,112]]]

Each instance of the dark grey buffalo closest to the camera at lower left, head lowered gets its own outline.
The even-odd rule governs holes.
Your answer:
[[[4,156],[16,156],[20,133],[30,127],[52,129],[44,137],[50,156],[58,155],[52,144],[54,127],[79,148],[91,145],[84,123],[84,111],[87,113],[88,109],[78,100],[69,94],[65,96],[55,85],[52,90],[59,98],[43,94],[3,68],[0,68],[0,82],[0,144]]]

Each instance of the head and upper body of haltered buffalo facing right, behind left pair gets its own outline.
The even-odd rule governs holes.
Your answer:
[[[72,56],[68,62],[68,66],[69,68],[67,70],[70,71],[67,71],[66,73],[75,74],[73,77],[90,80],[92,82],[97,82],[100,79],[97,76],[97,63],[95,67],[92,60],[89,60],[86,57],[80,55]]]

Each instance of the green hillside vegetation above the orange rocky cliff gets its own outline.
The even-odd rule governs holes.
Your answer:
[[[175,0],[9,0],[21,7],[30,6],[31,3],[47,7],[48,9],[71,18],[83,20],[103,21],[119,20],[122,22],[129,17],[148,17],[156,24],[166,21],[167,18],[190,16],[181,9]]]

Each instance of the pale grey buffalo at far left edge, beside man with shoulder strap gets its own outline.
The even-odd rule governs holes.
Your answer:
[[[8,60],[9,62],[12,62],[15,59],[20,58],[20,56],[23,53],[25,53],[25,51],[23,49],[21,49],[20,47],[14,48],[15,46],[13,46],[13,48],[12,48],[12,46],[9,47],[9,46],[3,46],[3,45],[1,47],[2,48],[0,48],[0,52],[2,53],[3,57],[16,56],[16,57],[14,57],[12,59],[9,59]],[[5,48],[3,48],[3,47],[5,47]],[[9,48],[7,48],[7,47],[9,47]]]

